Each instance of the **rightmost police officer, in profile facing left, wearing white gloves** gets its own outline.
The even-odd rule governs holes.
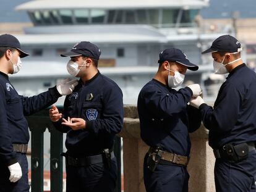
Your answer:
[[[223,35],[211,52],[216,74],[228,74],[213,107],[198,96],[190,104],[200,109],[215,161],[216,191],[255,191],[256,75],[241,59],[241,43]]]

